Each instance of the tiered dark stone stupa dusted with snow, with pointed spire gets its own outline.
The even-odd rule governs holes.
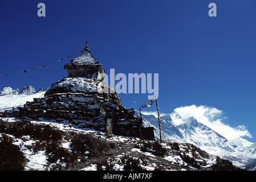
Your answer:
[[[67,69],[68,77],[52,84],[44,97],[5,111],[5,115],[62,122],[107,134],[155,139],[153,127],[143,127],[142,118],[135,117],[134,109],[122,106],[115,90],[107,85],[108,93],[97,92],[105,74],[102,65],[92,56],[88,42],[82,54],[64,65],[64,69]]]

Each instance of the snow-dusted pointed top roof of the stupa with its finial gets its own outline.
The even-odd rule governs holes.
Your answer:
[[[72,64],[99,64],[99,62],[92,56],[92,53],[86,42],[86,48],[79,57],[76,57],[71,61]]]

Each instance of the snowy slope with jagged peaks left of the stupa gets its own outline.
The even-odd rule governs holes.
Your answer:
[[[13,107],[20,107],[26,104],[27,101],[33,101],[34,98],[44,96],[46,89],[35,91],[34,86],[25,86],[21,91],[5,87],[0,91],[0,111],[10,110]]]

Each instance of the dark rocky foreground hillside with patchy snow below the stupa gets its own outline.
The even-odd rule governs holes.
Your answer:
[[[51,121],[2,118],[0,133],[1,170],[239,170],[193,144],[107,136]]]

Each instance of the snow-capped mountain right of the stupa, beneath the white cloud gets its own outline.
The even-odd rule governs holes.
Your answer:
[[[160,138],[159,121],[155,115],[142,114],[144,125],[155,127],[155,136]],[[162,140],[192,143],[209,154],[228,159],[235,166],[245,167],[256,159],[255,143],[244,140],[248,147],[238,146],[194,117],[182,117],[177,111],[161,116]],[[252,165],[250,165],[251,167]]]

